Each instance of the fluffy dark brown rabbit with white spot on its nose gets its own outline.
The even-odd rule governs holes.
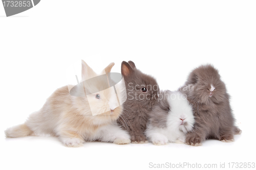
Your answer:
[[[209,138],[231,142],[234,134],[241,134],[242,131],[234,126],[226,86],[213,66],[202,65],[194,69],[179,90],[193,105],[196,120],[193,131],[186,134],[187,144],[201,145]]]

